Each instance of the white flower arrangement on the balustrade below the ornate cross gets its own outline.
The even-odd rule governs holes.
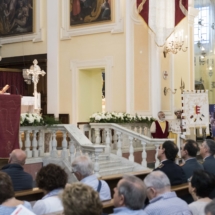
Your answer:
[[[44,125],[44,120],[40,114],[37,113],[22,113],[20,116],[21,126],[40,126]]]

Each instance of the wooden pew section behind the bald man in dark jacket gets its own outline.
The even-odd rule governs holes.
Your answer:
[[[26,200],[26,201],[37,201],[44,196],[43,190],[39,188],[33,188],[31,190],[23,190],[23,191],[16,191],[15,197],[19,200]]]

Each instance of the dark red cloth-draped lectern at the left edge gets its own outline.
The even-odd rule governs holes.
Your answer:
[[[20,95],[0,95],[0,158],[19,148]]]

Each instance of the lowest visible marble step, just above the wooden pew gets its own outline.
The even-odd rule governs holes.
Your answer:
[[[129,173],[129,172],[133,172],[133,166],[117,166],[117,167],[100,169],[99,174],[101,176],[106,176],[106,175]]]

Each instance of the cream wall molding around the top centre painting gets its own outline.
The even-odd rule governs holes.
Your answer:
[[[123,0],[124,1],[124,0]],[[113,23],[101,23],[98,25],[84,25],[83,27],[72,27],[70,28],[69,23],[69,0],[62,1],[62,26],[60,29],[61,40],[69,40],[71,37],[87,34],[96,34],[103,32],[122,33],[124,31],[124,22],[122,17],[122,1],[114,0],[114,13],[115,21]]]

